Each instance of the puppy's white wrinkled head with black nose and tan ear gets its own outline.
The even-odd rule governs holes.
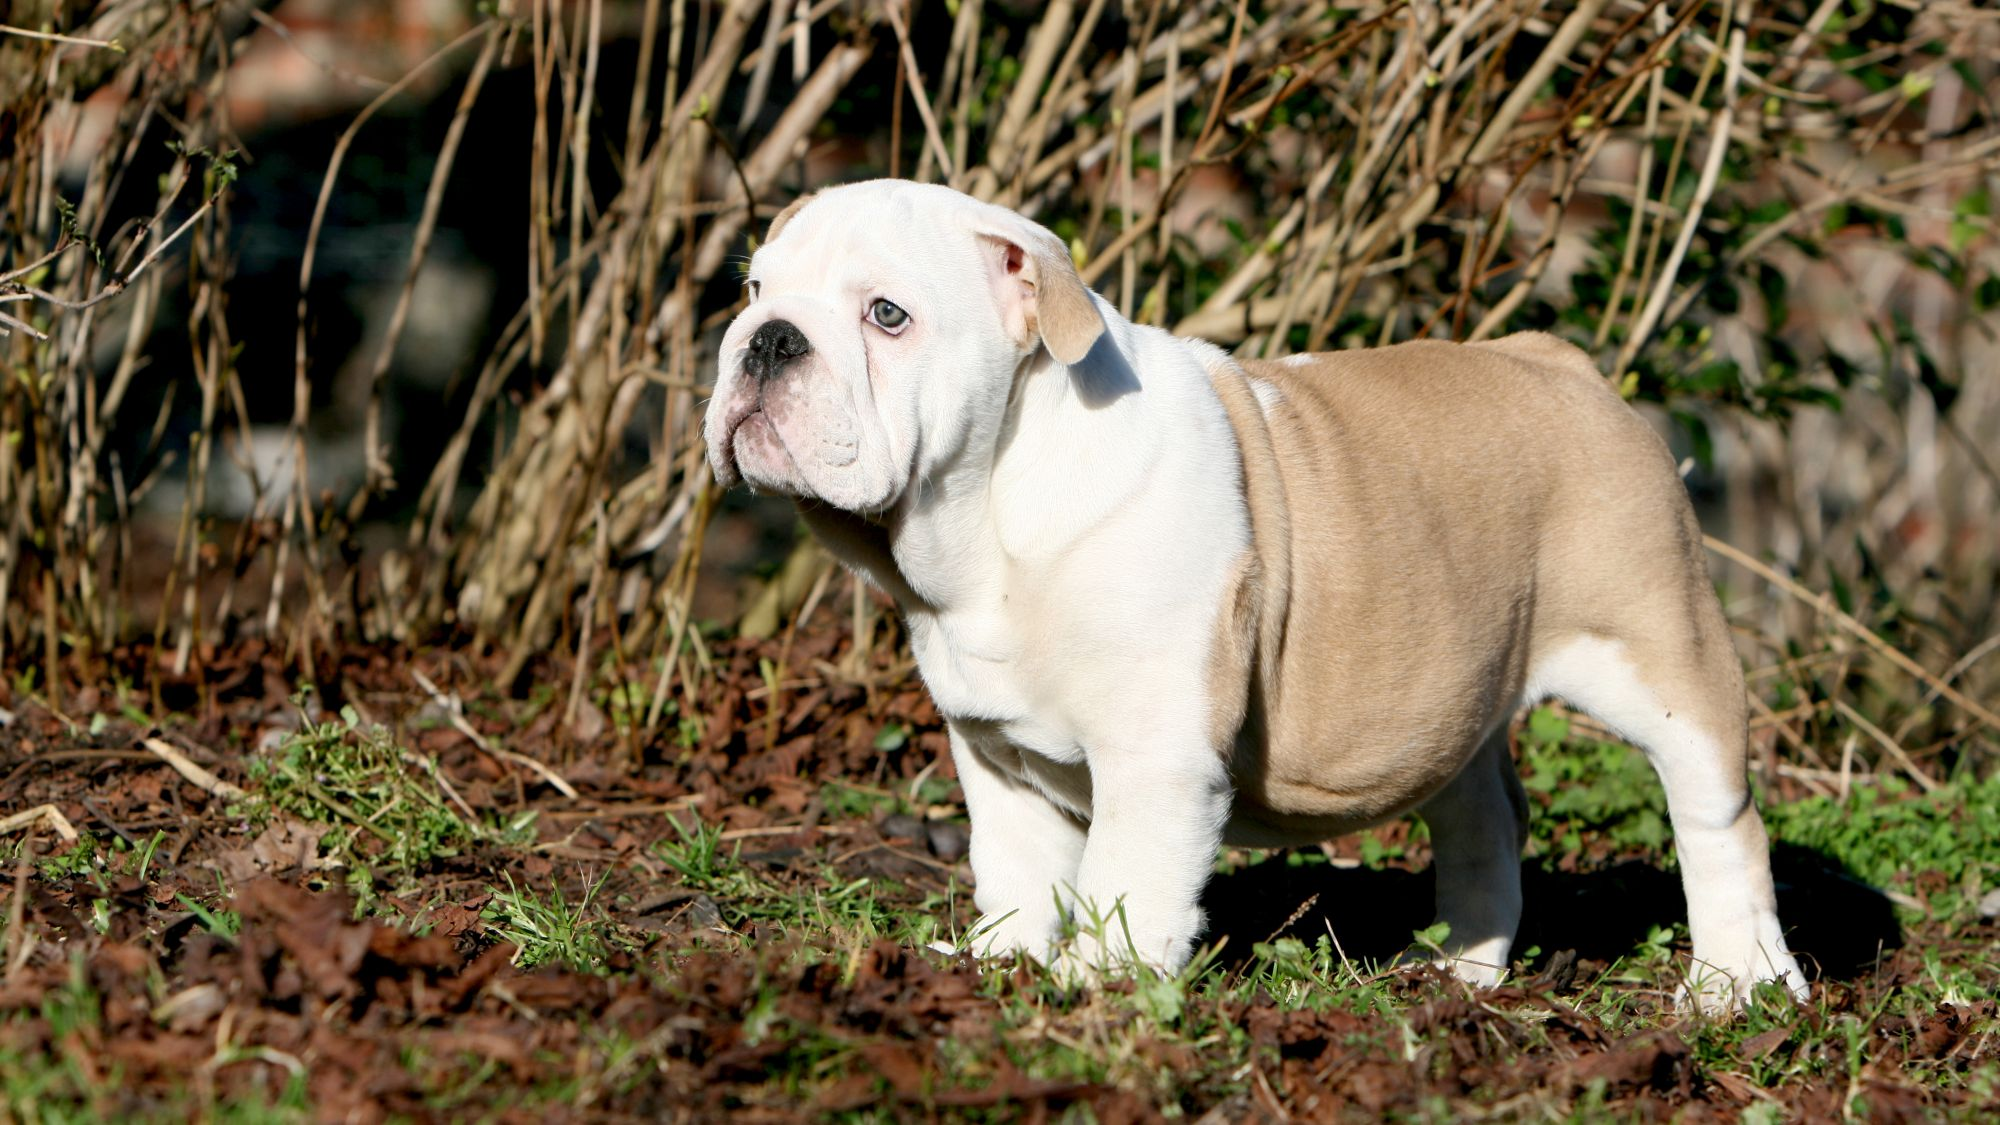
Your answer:
[[[878,514],[998,420],[1022,360],[1104,332],[1062,240],[936,184],[808,196],[750,258],[704,436],[716,480]]]

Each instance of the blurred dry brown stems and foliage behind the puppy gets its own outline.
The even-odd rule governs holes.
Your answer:
[[[644,753],[736,631],[906,671],[700,412],[764,222],[914,176],[1240,354],[1582,344],[1686,456],[1766,783],[1982,771],[1996,70],[1910,0],[0,4],[0,691],[454,643]]]

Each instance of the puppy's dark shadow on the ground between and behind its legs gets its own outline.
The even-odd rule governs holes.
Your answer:
[[[1852,981],[1876,959],[1902,945],[1896,911],[1872,887],[1850,877],[1818,851],[1778,845],[1772,851],[1778,917],[1788,943],[1812,979]],[[1318,895],[1310,909],[1300,907]],[[1624,861],[1596,871],[1546,871],[1522,863],[1524,911],[1516,957],[1524,949],[1574,949],[1590,961],[1632,953],[1652,927],[1688,921],[1680,875],[1650,863]],[[1354,961],[1384,961],[1410,945],[1410,933],[1430,925],[1430,871],[1310,865],[1272,857],[1256,867],[1218,875],[1202,893],[1208,933],[1228,939],[1222,963],[1236,967],[1252,947],[1272,937],[1308,945],[1332,925]],[[1296,919],[1292,915],[1298,913]],[[1290,925],[1288,925],[1290,919]]]

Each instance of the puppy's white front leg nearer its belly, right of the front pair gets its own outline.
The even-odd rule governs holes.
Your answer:
[[[1168,973],[1188,963],[1230,799],[1228,771],[1208,747],[1092,753],[1078,961],[1136,957]]]

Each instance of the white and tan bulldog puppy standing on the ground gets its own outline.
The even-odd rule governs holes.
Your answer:
[[[1744,681],[1674,462],[1552,336],[1236,360],[1128,322],[1046,228],[874,180],[750,258],[706,416],[888,591],[950,725],[982,953],[1178,969],[1224,843],[1418,811],[1466,981],[1520,921],[1508,721],[1562,697],[1666,785],[1684,999],[1806,995]]]

